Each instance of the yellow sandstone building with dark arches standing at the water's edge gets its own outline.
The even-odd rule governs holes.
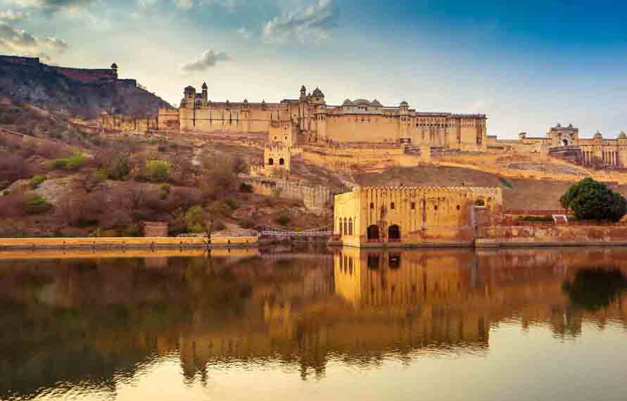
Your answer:
[[[334,235],[343,246],[468,246],[474,208],[500,210],[500,188],[357,187],[335,196]]]

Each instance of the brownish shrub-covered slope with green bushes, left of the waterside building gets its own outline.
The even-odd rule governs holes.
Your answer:
[[[36,129],[32,139],[0,134],[0,236],[134,236],[147,221],[168,222],[170,235],[250,229],[274,224],[281,210],[303,210],[253,193],[237,176],[247,170],[236,152],[184,139],[67,126]],[[289,224],[321,225],[306,213]]]

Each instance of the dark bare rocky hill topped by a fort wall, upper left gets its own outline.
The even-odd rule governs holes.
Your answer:
[[[77,74],[68,74],[68,70]],[[103,77],[103,71],[107,72],[56,68],[35,58],[0,56],[0,100],[30,103],[85,118],[96,117],[102,111],[156,114],[158,108],[171,107],[162,98],[137,87],[134,79],[117,79],[117,74]]]

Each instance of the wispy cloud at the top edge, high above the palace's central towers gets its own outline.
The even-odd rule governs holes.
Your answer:
[[[318,42],[329,37],[337,25],[337,8],[333,0],[317,0],[310,6],[283,13],[264,24],[262,35],[269,42]]]

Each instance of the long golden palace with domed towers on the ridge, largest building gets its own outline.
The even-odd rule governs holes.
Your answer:
[[[319,88],[308,93],[304,86],[298,98],[279,103],[232,103],[211,101],[205,83],[201,93],[184,89],[178,111],[182,131],[268,132],[273,122],[291,121],[309,142],[403,142],[469,151],[483,150],[487,142],[483,114],[423,113],[405,101],[384,106],[376,99],[346,99],[333,106]],[[171,112],[163,117],[171,120]]]

